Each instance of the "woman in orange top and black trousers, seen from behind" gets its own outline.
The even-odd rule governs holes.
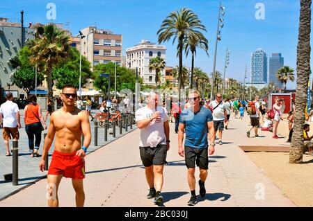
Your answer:
[[[40,147],[41,132],[42,129],[47,129],[47,125],[43,119],[40,105],[37,103],[37,97],[34,94],[29,96],[29,104],[24,108],[24,123],[25,131],[29,138],[29,152],[31,153],[31,157],[39,157],[38,150]]]

